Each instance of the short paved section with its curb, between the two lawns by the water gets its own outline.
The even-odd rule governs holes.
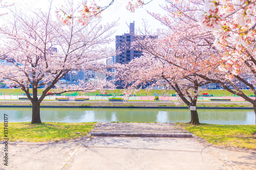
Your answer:
[[[179,130],[174,124],[161,123],[101,123],[92,136],[130,137],[193,137],[193,134]]]

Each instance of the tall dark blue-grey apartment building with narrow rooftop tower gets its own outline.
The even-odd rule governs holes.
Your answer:
[[[130,33],[124,33],[123,35],[116,35],[116,51],[120,49],[121,54],[114,56],[114,63],[127,63],[136,57],[142,56],[142,52],[131,50],[131,42],[134,41],[134,26],[135,23],[130,23]]]

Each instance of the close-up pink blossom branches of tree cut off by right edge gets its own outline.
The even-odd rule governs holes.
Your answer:
[[[204,29],[215,35],[214,45],[219,53],[217,57],[222,60],[215,77],[201,77],[220,83],[229,92],[242,96],[253,104],[256,115],[256,100],[239,87],[239,84],[247,86],[256,95],[256,1],[207,0],[201,4],[204,4],[204,11],[198,12],[198,21]]]

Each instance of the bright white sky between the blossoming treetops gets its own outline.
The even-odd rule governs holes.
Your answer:
[[[82,2],[81,0],[74,0],[77,3]],[[46,11],[49,6],[48,0],[9,0],[8,3],[14,2],[16,9],[27,12],[29,10],[36,10],[41,8],[43,11]],[[111,2],[111,0],[96,0],[98,5],[105,5]],[[118,20],[118,27],[115,28],[116,33],[113,35],[113,39],[115,35],[122,35],[124,33],[129,33],[129,25],[130,22],[135,22],[135,30],[138,28],[142,28],[142,19],[148,21],[150,30],[155,32],[157,28],[163,28],[161,23],[154,19],[150,14],[146,12],[146,10],[155,13],[163,13],[163,9],[161,9],[160,5],[164,4],[164,0],[153,0],[151,3],[145,5],[143,8],[136,9],[134,13],[126,10],[126,5],[129,0],[115,0],[114,4],[110,6],[108,9],[101,13],[102,22],[112,22],[114,20]],[[148,2],[145,0],[145,2]],[[88,0],[90,3],[90,0]],[[103,4],[104,3],[104,4]],[[53,1],[54,8],[59,8],[63,5],[63,0],[54,0]],[[3,21],[0,21],[3,22]],[[111,47],[115,47],[115,42],[110,44]]]

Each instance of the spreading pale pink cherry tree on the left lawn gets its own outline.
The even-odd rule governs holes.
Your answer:
[[[0,28],[0,59],[11,65],[1,65],[0,80],[22,89],[32,103],[32,124],[41,123],[40,103],[48,95],[69,91],[90,92],[113,87],[106,80],[79,81],[78,85],[61,87],[57,82],[74,70],[103,72],[106,59],[113,50],[104,47],[111,41],[116,22],[101,25],[92,20],[82,26],[72,20],[69,26],[52,19],[51,9],[30,15],[13,13],[14,19]],[[54,50],[55,49],[55,50]],[[57,49],[57,50],[56,50]],[[29,87],[32,86],[32,96]],[[45,89],[38,96],[38,87]],[[49,91],[56,86],[56,89]]]

